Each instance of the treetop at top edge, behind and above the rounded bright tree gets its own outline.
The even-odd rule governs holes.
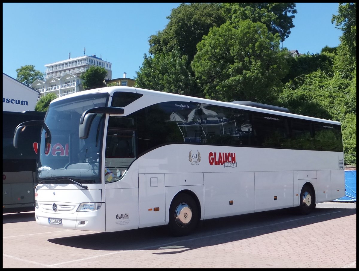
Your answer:
[[[265,24],[273,35],[279,34],[280,41],[290,35],[297,13],[295,3],[222,3],[227,21],[239,23],[250,20]],[[290,15],[291,14],[291,15]]]

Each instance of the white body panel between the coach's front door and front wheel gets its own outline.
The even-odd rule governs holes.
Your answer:
[[[139,174],[140,228],[164,225],[164,174]]]

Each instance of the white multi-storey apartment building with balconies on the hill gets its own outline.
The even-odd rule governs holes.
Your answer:
[[[70,57],[70,54],[69,54]],[[111,62],[104,61],[96,55],[69,58],[55,63],[46,64],[45,81],[35,80],[30,86],[40,93],[40,96],[55,93],[58,97],[79,92],[82,89],[80,75],[91,66],[103,67],[107,71],[106,80],[111,80]]]

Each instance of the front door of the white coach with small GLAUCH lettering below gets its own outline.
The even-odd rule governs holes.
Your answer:
[[[135,131],[107,129],[104,164],[106,231],[138,229],[138,164]]]

